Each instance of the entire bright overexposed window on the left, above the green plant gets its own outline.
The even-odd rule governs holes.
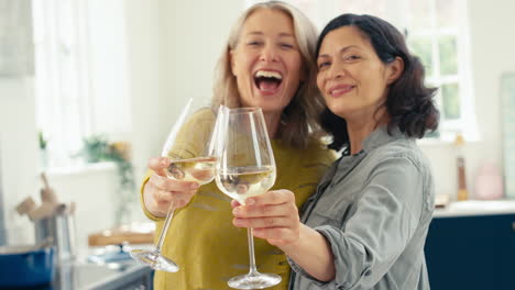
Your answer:
[[[36,123],[48,167],[74,158],[85,137],[131,129],[124,1],[33,1]]]

